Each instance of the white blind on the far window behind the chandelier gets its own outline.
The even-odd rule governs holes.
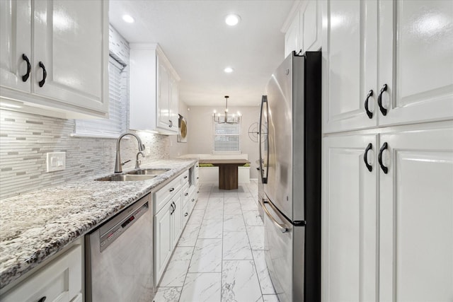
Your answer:
[[[241,153],[241,123],[213,122],[212,153]]]

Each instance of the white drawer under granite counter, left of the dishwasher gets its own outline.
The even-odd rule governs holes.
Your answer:
[[[35,274],[7,291],[2,302],[81,301],[82,249],[75,245]]]

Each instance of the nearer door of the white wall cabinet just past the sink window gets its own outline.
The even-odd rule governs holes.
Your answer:
[[[157,61],[157,127],[169,130],[171,129],[170,74],[159,57]]]

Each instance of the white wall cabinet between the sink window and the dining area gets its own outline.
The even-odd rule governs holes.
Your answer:
[[[179,76],[157,44],[130,44],[130,129],[178,134]]]

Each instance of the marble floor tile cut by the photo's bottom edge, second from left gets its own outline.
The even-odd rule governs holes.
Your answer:
[[[221,299],[220,273],[188,273],[180,302],[215,302]]]

